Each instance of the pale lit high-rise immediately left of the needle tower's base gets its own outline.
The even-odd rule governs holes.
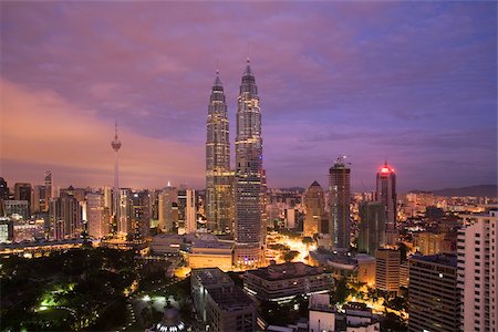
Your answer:
[[[95,239],[110,234],[110,208],[105,206],[105,196],[101,193],[86,195],[86,225],[89,235]]]

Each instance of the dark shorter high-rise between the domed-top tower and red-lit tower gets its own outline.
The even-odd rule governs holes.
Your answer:
[[[384,206],[378,201],[360,204],[357,251],[374,256],[385,245]]]

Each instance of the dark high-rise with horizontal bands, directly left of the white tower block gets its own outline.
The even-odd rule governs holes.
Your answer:
[[[408,262],[408,331],[459,331],[456,256],[414,256]]]

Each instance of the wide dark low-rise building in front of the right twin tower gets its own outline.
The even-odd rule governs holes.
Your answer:
[[[333,278],[323,268],[302,262],[270,264],[243,274],[245,290],[259,300],[284,301],[300,294],[328,292],[332,286]]]

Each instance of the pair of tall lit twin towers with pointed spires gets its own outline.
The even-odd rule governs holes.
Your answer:
[[[234,234],[235,264],[263,261],[266,176],[262,168],[261,108],[249,60],[237,98],[235,170],[230,168],[225,91],[216,73],[209,97],[206,141],[206,217],[215,234]]]

